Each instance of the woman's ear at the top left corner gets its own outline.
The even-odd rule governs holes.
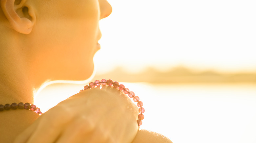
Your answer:
[[[0,5],[11,28],[23,34],[32,31],[36,16],[27,0],[0,0]]]

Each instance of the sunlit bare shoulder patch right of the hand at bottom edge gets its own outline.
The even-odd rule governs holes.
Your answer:
[[[139,130],[132,143],[173,143],[169,138],[156,132]]]

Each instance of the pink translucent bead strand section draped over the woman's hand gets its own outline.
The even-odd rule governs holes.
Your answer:
[[[133,98],[134,102],[137,102],[137,106],[140,107],[139,108],[140,114],[138,115],[137,123],[138,123],[138,126],[142,125],[142,120],[144,119],[143,113],[145,112],[145,109],[142,107],[143,103],[141,101],[139,101],[139,97],[135,96],[133,91],[130,91],[128,88],[125,88],[124,85],[122,85],[122,84],[119,85],[119,83],[117,81],[113,82],[113,80],[111,80],[111,79],[109,79],[109,80],[102,79],[101,81],[96,80],[95,82],[91,82],[91,83],[89,83],[89,85],[84,86],[84,89],[80,90],[80,92],[82,92],[86,89],[89,89],[89,88],[105,86],[105,85],[118,88],[119,90],[123,91],[125,94],[128,94],[128,96],[130,98]]]

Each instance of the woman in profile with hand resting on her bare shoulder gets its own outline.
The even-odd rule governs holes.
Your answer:
[[[34,91],[46,82],[92,75],[98,22],[112,11],[106,0],[0,0],[0,5],[0,104],[33,103]],[[120,94],[115,88],[88,89],[40,117],[2,111],[0,142],[171,142],[138,130],[138,107]]]

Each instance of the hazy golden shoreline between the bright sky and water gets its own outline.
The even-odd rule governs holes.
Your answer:
[[[193,71],[186,67],[175,67],[169,71],[158,71],[148,67],[140,73],[129,73],[122,67],[104,73],[97,74],[96,79],[113,79],[120,82],[148,82],[161,83],[256,83],[256,72],[219,73],[216,71]]]

